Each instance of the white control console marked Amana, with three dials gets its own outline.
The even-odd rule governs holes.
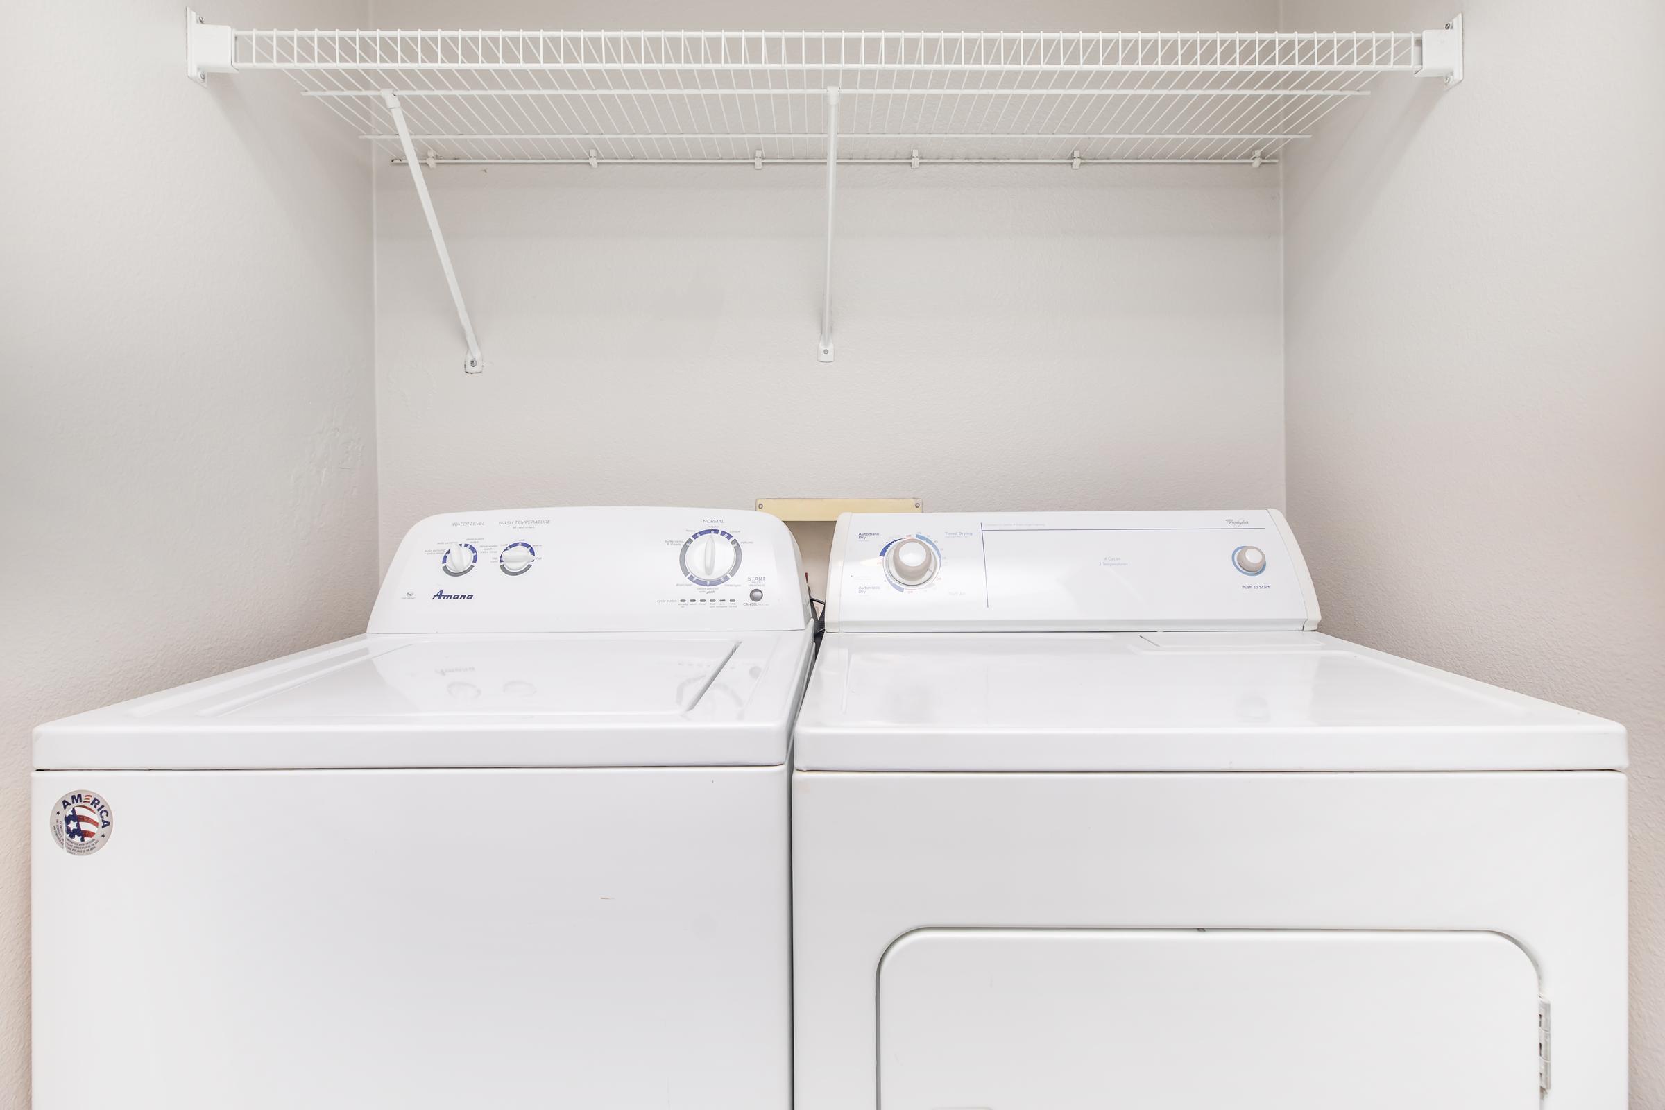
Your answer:
[[[493,509],[406,533],[371,632],[791,631],[798,543],[751,509]]]

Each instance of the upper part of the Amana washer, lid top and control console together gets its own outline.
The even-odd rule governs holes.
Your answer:
[[[35,767],[774,767],[811,649],[764,513],[446,513],[366,636],[42,726]]]

